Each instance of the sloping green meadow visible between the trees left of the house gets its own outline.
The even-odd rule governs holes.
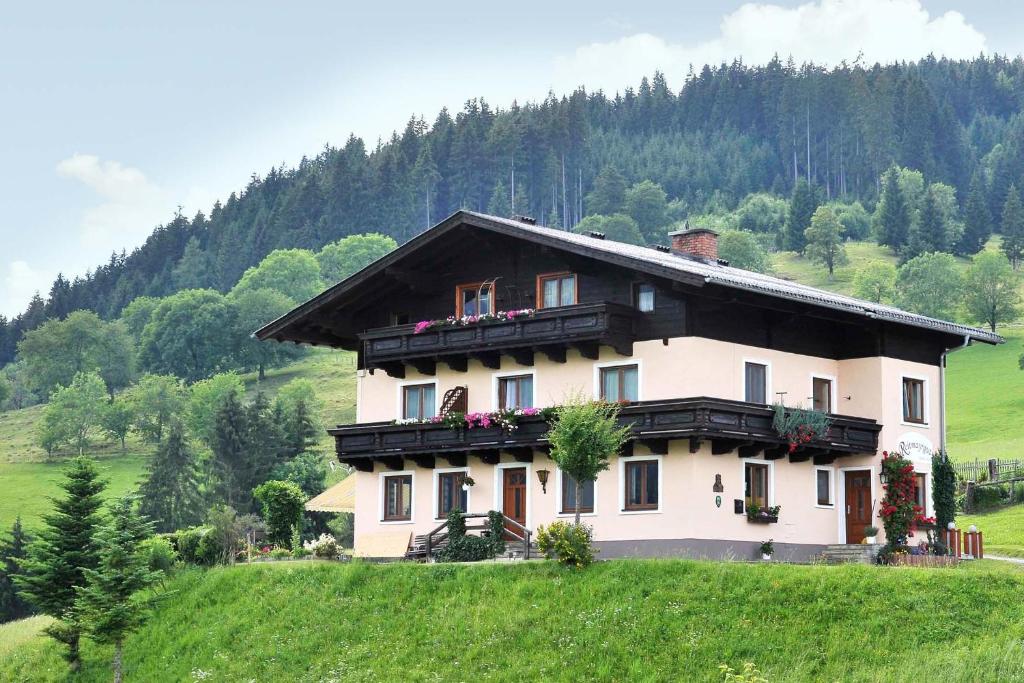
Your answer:
[[[324,424],[351,422],[355,419],[354,355],[324,349],[309,354],[287,368],[267,372],[258,382],[255,374],[245,375],[250,394],[264,391],[272,396],[285,383],[302,377],[311,380],[317,395],[324,400]],[[60,470],[73,454],[49,458],[35,443],[36,423],[42,418],[41,405],[22,411],[0,413],[0,529],[10,528],[18,514],[33,525],[50,508],[48,498],[59,494]],[[340,478],[342,470],[331,458],[334,444],[324,434],[322,450],[332,466],[331,481]],[[141,479],[154,446],[138,439],[129,439],[122,452],[119,444],[97,442],[87,450],[96,458],[103,475],[110,480],[108,495],[120,496],[131,490]]]

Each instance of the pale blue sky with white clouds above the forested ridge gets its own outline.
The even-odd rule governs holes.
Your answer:
[[[778,53],[1024,51],[1024,3],[17,3],[0,18],[0,315],[271,166],[496,106]]]

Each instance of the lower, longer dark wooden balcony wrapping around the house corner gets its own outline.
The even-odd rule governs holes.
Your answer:
[[[788,456],[793,462],[813,460],[815,464],[876,454],[882,429],[874,420],[833,415],[823,438],[790,454],[784,439],[772,428],[772,409],[759,403],[708,397],[636,401],[623,407],[618,420],[632,427],[624,456],[632,456],[637,444],[668,455],[670,441],[686,440],[689,453],[709,441],[714,455],[735,452],[740,458],[769,460]],[[375,461],[402,469],[406,459],[420,467],[434,467],[436,458],[453,467],[465,466],[469,457],[495,464],[502,453],[530,462],[535,451],[549,449],[548,424],[540,416],[521,418],[511,433],[497,427],[451,429],[439,424],[392,423],[343,425],[328,431],[335,437],[338,459],[362,471],[371,471]]]

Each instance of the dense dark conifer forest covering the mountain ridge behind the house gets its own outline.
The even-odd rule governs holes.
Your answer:
[[[274,249],[316,249],[359,232],[403,242],[465,207],[573,226],[602,169],[664,187],[673,214],[734,208],[755,191],[790,195],[798,179],[824,199],[868,207],[892,164],[956,189],[977,183],[1001,215],[1024,177],[1024,60],[928,57],[824,69],[773,60],[705,67],[679,92],[655,74],[611,97],[584,89],[496,110],[480,99],[432,124],[412,119],[368,150],[350,137],[296,168],[254,175],[210,214],[175,216],[130,254],[0,317],[0,366],[26,330],[78,308],[116,315],[138,296],[226,291]]]

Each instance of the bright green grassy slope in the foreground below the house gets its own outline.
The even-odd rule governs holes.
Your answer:
[[[189,570],[126,644],[129,681],[1021,680],[1024,572],[647,560]],[[415,615],[415,618],[411,616]],[[0,679],[63,680],[34,624]],[[4,640],[20,645],[8,647]],[[109,680],[87,643],[81,681]]]

